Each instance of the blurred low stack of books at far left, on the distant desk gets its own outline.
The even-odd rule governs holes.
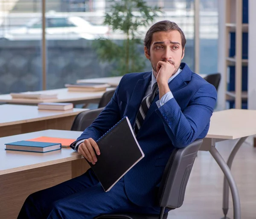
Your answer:
[[[37,99],[37,100],[47,100],[47,99],[57,99],[57,94],[41,94],[36,92],[21,92],[21,93],[11,93],[13,99]]]

